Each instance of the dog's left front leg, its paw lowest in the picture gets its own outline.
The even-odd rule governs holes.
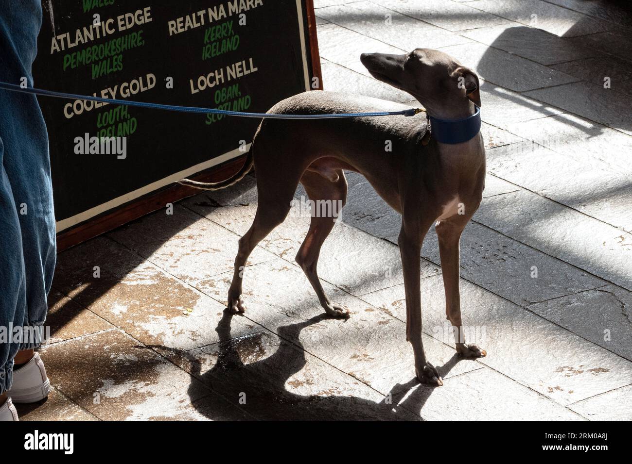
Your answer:
[[[437,368],[426,359],[422,342],[422,299],[421,299],[421,264],[423,238],[430,228],[430,224],[420,225],[402,221],[399,232],[399,253],[404,270],[404,291],[406,292],[406,340],[413,345],[415,354],[415,373],[423,383],[443,385]]]

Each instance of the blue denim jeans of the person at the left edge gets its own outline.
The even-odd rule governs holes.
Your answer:
[[[33,85],[41,24],[40,0],[0,0],[0,80]],[[35,95],[0,90],[0,394],[18,350],[41,343],[55,259],[44,117]]]

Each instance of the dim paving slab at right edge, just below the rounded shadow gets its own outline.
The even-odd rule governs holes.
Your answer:
[[[532,90],[525,95],[632,135],[632,97],[611,88],[581,81]]]

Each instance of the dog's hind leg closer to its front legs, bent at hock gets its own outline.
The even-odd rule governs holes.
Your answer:
[[[301,184],[312,201],[312,220],[307,236],[296,254],[296,263],[305,272],[325,312],[337,318],[348,318],[349,310],[346,307],[329,300],[317,273],[320,247],[346,203],[347,181],[341,169],[325,173],[306,171],[301,177]]]

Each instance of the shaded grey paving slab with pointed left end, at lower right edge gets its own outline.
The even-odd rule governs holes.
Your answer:
[[[605,285],[528,306],[587,340],[632,360],[632,292]]]

